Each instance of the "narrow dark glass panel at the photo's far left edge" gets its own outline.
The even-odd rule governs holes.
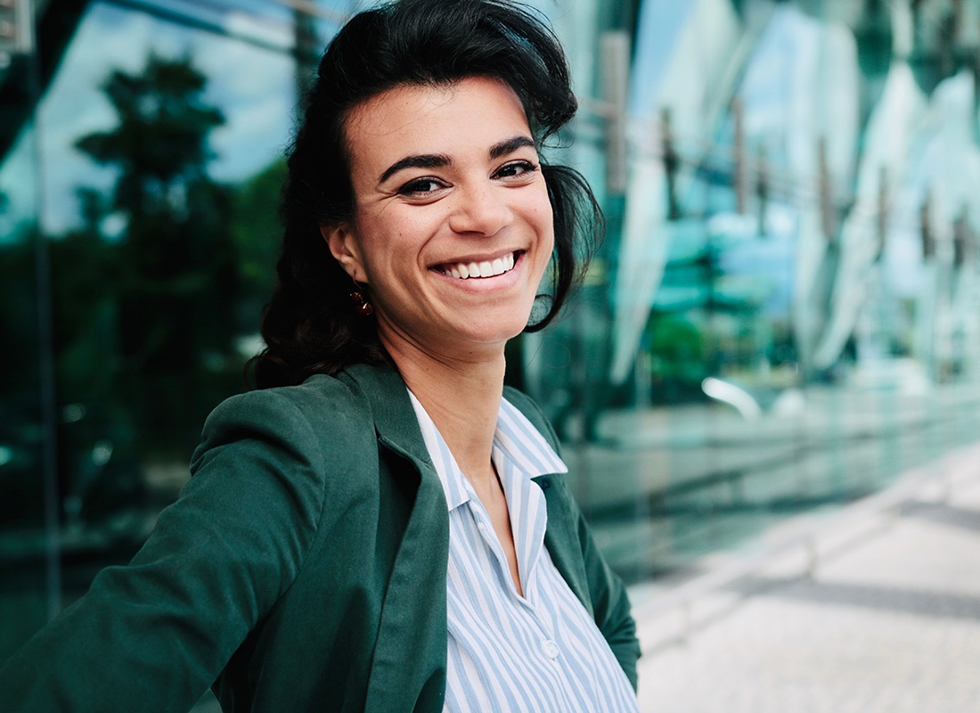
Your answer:
[[[11,71],[26,69],[26,63],[17,63]],[[36,146],[36,132],[28,125],[0,164],[0,324],[5,335],[0,370],[0,659],[47,621],[51,584],[37,303]]]

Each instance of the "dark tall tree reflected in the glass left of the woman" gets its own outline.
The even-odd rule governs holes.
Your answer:
[[[76,357],[118,349],[123,401],[157,451],[196,438],[227,390],[218,377],[235,332],[231,197],[207,172],[224,119],[203,100],[206,82],[189,57],[154,54],[141,73],[108,77],[117,126],[76,145],[119,178],[105,200],[79,193],[84,228],[53,254],[56,321],[73,342],[60,376],[84,388],[83,364],[112,365]],[[122,233],[109,241],[100,227],[112,223]]]

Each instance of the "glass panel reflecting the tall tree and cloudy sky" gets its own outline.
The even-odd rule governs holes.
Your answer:
[[[95,4],[40,107],[69,599],[175,497],[270,293],[294,63],[209,29]]]

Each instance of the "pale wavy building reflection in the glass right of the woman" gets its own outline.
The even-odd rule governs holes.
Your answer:
[[[976,49],[966,29],[976,9],[971,3],[862,5],[643,5],[629,104],[633,179],[614,292],[614,379],[625,378],[649,306],[660,299],[670,248],[652,248],[650,233],[656,229],[668,243],[677,239],[667,220],[677,209],[651,196],[679,195],[682,215],[734,229],[721,236],[741,242],[732,244],[733,255],[759,250],[763,235],[792,240],[795,265],[781,280],[769,265],[754,276],[743,270],[732,277],[753,277],[773,290],[790,280],[783,322],[808,374],[831,369],[845,353],[868,307],[871,273],[880,270],[886,285],[896,283],[875,290],[878,298],[933,299],[911,286],[923,270],[911,254],[920,239],[919,207],[932,196],[944,263],[953,257],[957,217],[966,216],[967,231],[980,220],[970,207],[980,154]],[[738,221],[720,221],[733,213],[771,219],[773,211],[781,225],[762,220],[748,234]],[[943,309],[948,298],[939,299]],[[923,319],[932,323],[931,315]],[[940,322],[936,327],[945,332],[924,343],[899,333],[891,341],[925,363],[948,362],[944,344],[970,328],[954,318]]]

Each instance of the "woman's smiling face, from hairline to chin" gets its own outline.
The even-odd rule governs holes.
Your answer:
[[[357,106],[345,129],[354,218],[323,233],[368,283],[389,351],[502,350],[527,324],[554,245],[514,91],[487,77],[399,86]]]

